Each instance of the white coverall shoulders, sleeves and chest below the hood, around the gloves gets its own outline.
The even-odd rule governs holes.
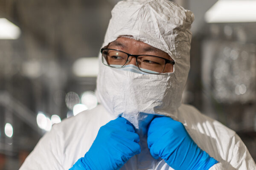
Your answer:
[[[233,130],[189,105],[181,105],[178,115],[198,146],[221,162],[210,170],[256,170],[247,148]],[[20,170],[68,170],[89,150],[99,128],[111,119],[115,117],[99,105],[53,125]],[[121,170],[172,170],[162,159],[153,159],[145,138],[140,140],[141,153],[132,157]]]

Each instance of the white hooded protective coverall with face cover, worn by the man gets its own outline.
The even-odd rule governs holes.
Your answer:
[[[250,153],[233,130],[181,104],[189,72],[189,28],[193,20],[191,11],[168,0],[120,1],[112,10],[102,46],[118,37],[145,42],[175,60],[174,72],[145,75],[100,62],[97,97],[101,104],[54,125],[20,170],[69,169],[90,149],[99,128],[118,116],[134,125],[141,146],[141,153],[129,159],[122,170],[173,170],[149,153],[145,124],[152,114],[181,122],[195,143],[219,161],[210,170],[255,170]]]

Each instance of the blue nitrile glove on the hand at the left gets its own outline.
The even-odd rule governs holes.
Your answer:
[[[128,120],[111,120],[99,129],[88,152],[70,170],[117,170],[140,153],[139,140]]]

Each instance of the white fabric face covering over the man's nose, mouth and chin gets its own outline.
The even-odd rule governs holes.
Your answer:
[[[128,119],[137,130],[144,131],[156,114],[176,119],[183,88],[173,73],[138,74],[101,64],[99,74],[99,101],[109,113]]]

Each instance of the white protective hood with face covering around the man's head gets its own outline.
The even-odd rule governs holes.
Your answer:
[[[105,66],[100,56],[96,95],[109,113],[122,115],[136,128],[148,114],[177,120],[189,72],[189,28],[193,20],[191,11],[169,0],[125,0],[116,4],[102,47],[118,37],[130,37],[165,51],[175,65],[173,73],[143,75]]]

